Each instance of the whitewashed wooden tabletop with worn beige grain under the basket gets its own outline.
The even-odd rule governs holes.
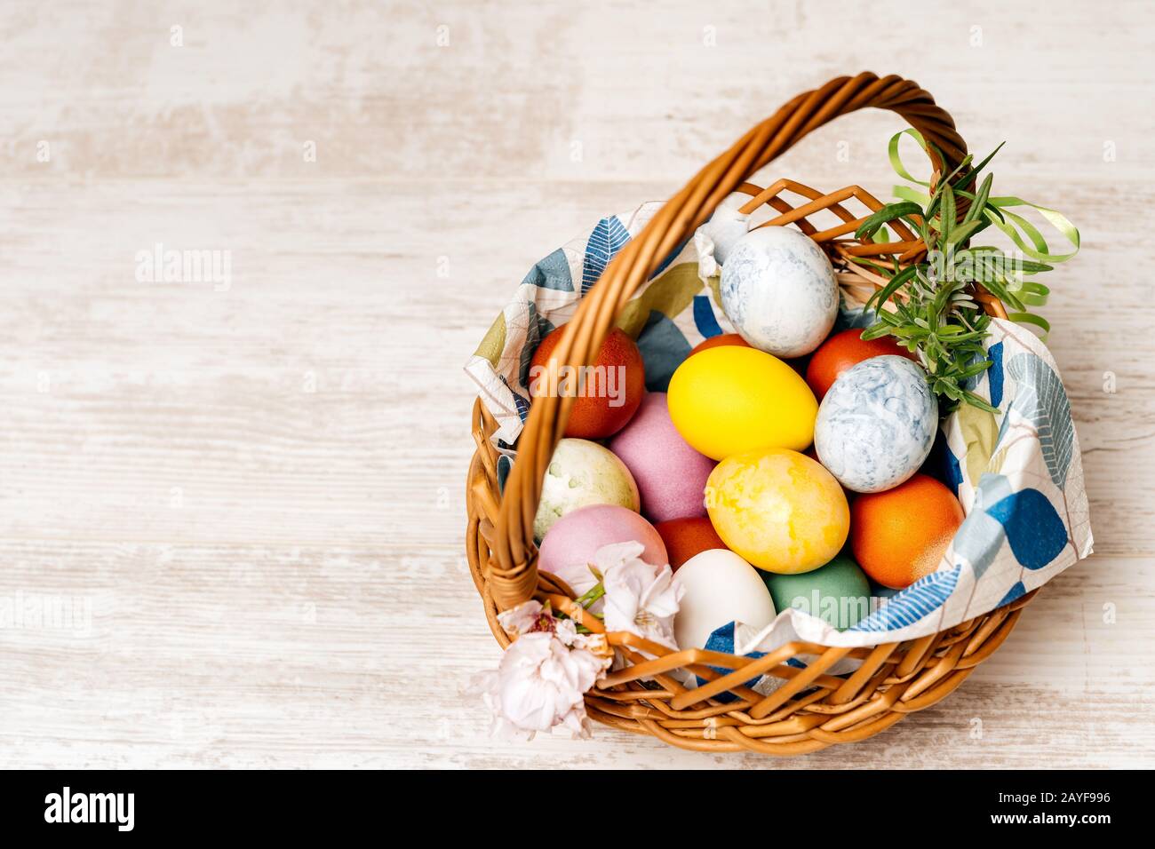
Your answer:
[[[5,6],[0,766],[1153,764],[1155,13],[744,6]],[[1082,230],[1046,314],[1096,556],[863,744],[491,739],[460,692],[498,661],[461,365],[535,260],[867,68],[1006,139],[998,189]],[[899,127],[842,119],[769,173],[886,194]],[[141,280],[157,244],[228,285]]]

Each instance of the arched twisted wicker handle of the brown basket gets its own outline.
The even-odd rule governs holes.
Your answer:
[[[605,268],[601,280],[579,303],[568,330],[554,352],[558,364],[588,365],[618,313],[658,263],[703,224],[733,189],[827,121],[869,106],[902,116],[931,144],[936,171],[957,165],[967,143],[954,120],[918,83],[901,76],[863,73],[840,76],[806,91],[751,129],[733,147],[694,176],[627,241]],[[934,148],[947,162],[937,162]],[[539,396],[530,407],[501,499],[489,564],[490,591],[498,609],[528,601],[537,589],[534,516],[542,496],[542,478],[553,449],[565,432],[573,397]]]

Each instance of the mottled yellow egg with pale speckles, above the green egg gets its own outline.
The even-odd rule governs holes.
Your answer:
[[[850,507],[834,476],[784,448],[726,457],[706,483],[710,522],[726,546],[767,572],[829,563],[847,542]]]

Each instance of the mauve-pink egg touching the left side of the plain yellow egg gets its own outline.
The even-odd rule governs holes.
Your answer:
[[[655,522],[705,516],[702,490],[715,462],[690,447],[673,427],[664,392],[642,399],[610,450],[626,464],[642,497],[642,515]]]

